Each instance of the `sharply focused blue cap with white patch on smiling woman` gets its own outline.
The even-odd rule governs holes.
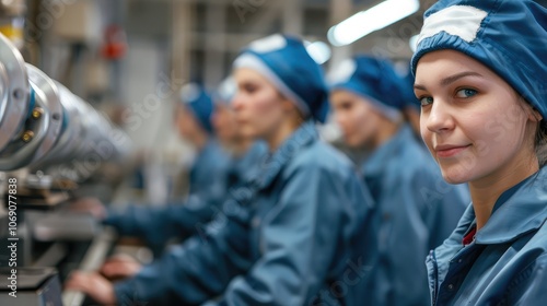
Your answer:
[[[441,0],[424,14],[411,69],[453,49],[505,80],[547,118],[547,10],[531,0]]]

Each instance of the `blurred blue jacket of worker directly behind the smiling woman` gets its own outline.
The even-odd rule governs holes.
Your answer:
[[[362,164],[381,219],[377,305],[429,303],[423,259],[450,236],[469,203],[467,189],[446,184],[433,163],[403,126]]]

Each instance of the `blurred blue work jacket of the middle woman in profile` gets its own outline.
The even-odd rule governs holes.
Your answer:
[[[203,235],[116,284],[118,303],[372,305],[372,210],[350,161],[305,122]]]

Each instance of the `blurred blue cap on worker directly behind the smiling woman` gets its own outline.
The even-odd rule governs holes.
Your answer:
[[[371,102],[385,117],[400,119],[405,106],[404,82],[391,61],[356,56],[340,63],[329,75],[330,90],[347,90]]]

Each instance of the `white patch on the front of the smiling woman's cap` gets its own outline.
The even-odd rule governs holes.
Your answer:
[[[468,5],[454,5],[441,10],[424,20],[417,45],[443,31],[470,43],[477,37],[480,24],[487,15],[486,11]]]

